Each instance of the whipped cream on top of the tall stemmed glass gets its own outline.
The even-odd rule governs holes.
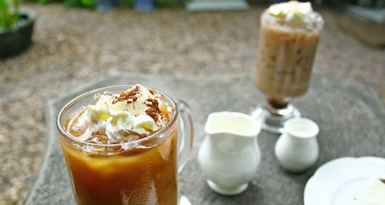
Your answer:
[[[287,22],[307,22],[313,13],[310,2],[289,1],[273,4],[267,9],[268,14],[285,19]]]

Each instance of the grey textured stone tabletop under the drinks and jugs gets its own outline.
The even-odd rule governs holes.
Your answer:
[[[302,174],[282,170],[274,157],[278,135],[262,132],[258,142],[262,162],[247,190],[236,196],[211,191],[197,162],[203,127],[210,112],[248,113],[264,96],[254,86],[252,76],[172,77],[114,73],[78,90],[49,101],[45,107],[46,150],[34,186],[25,202],[30,204],[74,204],[65,161],[56,133],[55,118],[73,97],[109,85],[143,84],[172,98],[185,100],[195,122],[194,150],[179,175],[179,192],[193,204],[303,204],[307,179],[323,163],[343,156],[385,156],[385,111],[372,88],[314,74],[307,94],[294,101],[304,117],[320,127],[320,158]]]

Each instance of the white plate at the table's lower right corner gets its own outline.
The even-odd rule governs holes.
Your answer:
[[[307,181],[303,195],[305,205],[371,204],[354,200],[370,178],[385,173],[385,158],[342,157],[331,160],[317,169]]]

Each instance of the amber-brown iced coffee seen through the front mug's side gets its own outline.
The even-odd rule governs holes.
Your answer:
[[[156,147],[114,155],[75,150],[61,139],[78,204],[177,204],[176,130]]]

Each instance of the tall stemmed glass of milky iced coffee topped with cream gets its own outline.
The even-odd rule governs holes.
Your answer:
[[[282,133],[285,120],[300,116],[291,101],[309,87],[323,24],[309,2],[274,4],[262,13],[255,84],[267,100],[251,114],[265,110],[265,130]]]

